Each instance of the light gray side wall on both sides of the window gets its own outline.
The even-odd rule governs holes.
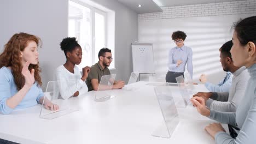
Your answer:
[[[96,0],[115,11],[115,65],[118,79],[127,80],[132,71],[131,43],[138,39],[138,15],[117,1]],[[65,62],[60,41],[68,33],[68,0],[0,1],[0,51],[14,33],[37,35],[43,41],[39,51],[43,89],[53,79],[54,69]]]

